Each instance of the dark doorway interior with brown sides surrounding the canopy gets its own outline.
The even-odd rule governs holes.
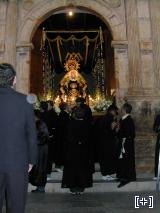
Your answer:
[[[102,28],[104,38],[104,58],[105,58],[105,87],[106,93],[111,94],[116,88],[114,71],[114,52],[111,47],[112,35],[106,24],[96,15],[90,13],[75,13],[69,17],[66,13],[54,14],[47,18],[38,27],[32,39],[34,49],[31,52],[30,69],[30,92],[36,95],[43,94],[43,57],[41,48],[42,31],[45,30],[94,30]],[[60,80],[57,75],[57,85]]]

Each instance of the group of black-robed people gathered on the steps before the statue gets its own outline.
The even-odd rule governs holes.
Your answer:
[[[61,103],[59,108],[57,115],[53,102],[43,101],[40,110],[35,110],[38,159],[29,181],[37,188],[32,192],[45,192],[53,163],[57,171],[63,171],[62,187],[73,194],[92,187],[95,162],[100,165],[102,179],[117,180],[118,187],[136,180],[135,127],[130,104],[123,105],[119,120],[114,104],[99,117],[92,116],[83,98],[77,98],[72,109],[67,103]]]

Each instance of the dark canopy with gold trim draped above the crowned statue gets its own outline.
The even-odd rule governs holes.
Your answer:
[[[57,73],[63,72],[67,53],[79,53],[83,72],[91,73],[96,49],[103,42],[102,30],[92,31],[45,31],[42,35],[42,47],[47,50],[50,63]]]

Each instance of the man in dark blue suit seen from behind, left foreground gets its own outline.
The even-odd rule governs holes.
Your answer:
[[[0,213],[24,213],[28,172],[36,162],[34,113],[27,97],[13,90],[16,72],[0,64]]]

